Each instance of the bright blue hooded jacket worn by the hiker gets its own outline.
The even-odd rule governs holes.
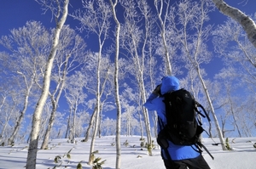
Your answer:
[[[162,79],[162,84],[160,87],[160,92],[163,95],[164,93],[175,91],[179,89],[179,82],[175,76],[165,76]],[[163,121],[163,124],[166,125],[166,106],[163,102],[163,97],[158,97],[158,95],[152,93],[144,106],[148,110],[156,110],[157,115],[159,116],[160,120]],[[160,123],[158,123],[158,132],[160,132]],[[171,155],[172,161],[181,161],[184,159],[191,159],[195,158],[200,155],[195,149],[196,147],[193,146],[181,146],[172,144],[171,141],[168,141],[169,147],[168,152]],[[161,149],[163,158],[167,160],[166,153],[164,149]]]

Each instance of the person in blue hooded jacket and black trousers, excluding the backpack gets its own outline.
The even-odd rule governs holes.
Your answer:
[[[179,82],[177,78],[175,76],[165,76],[162,78],[162,83],[154,89],[154,92],[150,94],[144,104],[148,110],[157,111],[159,138],[161,129],[166,125],[166,106],[163,102],[163,97],[160,96],[178,89]],[[189,169],[210,169],[207,161],[194,145],[176,145],[172,144],[170,140],[164,140],[160,147],[166,169],[186,169],[187,167]]]

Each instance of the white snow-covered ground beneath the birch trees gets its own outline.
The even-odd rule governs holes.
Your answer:
[[[148,156],[147,149],[141,148],[140,136],[121,136],[121,168],[122,169],[164,169],[163,161],[160,156],[160,149],[153,150],[153,156]],[[76,144],[67,143],[67,139],[54,139],[49,142],[49,149],[38,149],[37,169],[48,168],[77,168],[81,162],[84,169],[91,169],[88,166],[90,151],[90,140],[87,143],[81,142],[83,138],[77,138]],[[214,142],[210,138],[204,138],[203,144],[214,156],[214,160],[203,152],[203,156],[212,169],[255,169],[256,149],[253,144],[256,138],[229,138],[231,151],[223,151],[218,143],[218,138]],[[232,139],[234,139],[232,141]],[[125,141],[129,143],[124,145]],[[106,160],[102,165],[103,169],[114,169],[116,161],[116,148],[114,145],[115,136],[96,138],[95,150],[99,152],[96,157]],[[154,143],[155,140],[154,140]],[[14,146],[0,147],[0,168],[24,168],[26,166],[28,144],[15,144]],[[71,151],[70,151],[71,150]],[[70,159],[67,152],[70,151]],[[55,163],[55,157],[61,156],[61,160]]]

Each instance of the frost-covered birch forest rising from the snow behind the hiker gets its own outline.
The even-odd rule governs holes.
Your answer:
[[[143,103],[163,76],[204,105],[210,137],[256,136],[256,13],[221,0],[36,1],[55,27],[27,20],[0,37],[0,144],[29,143],[27,161],[49,139],[83,138],[91,153],[96,137],[116,135],[119,168],[120,135],[156,137]]]

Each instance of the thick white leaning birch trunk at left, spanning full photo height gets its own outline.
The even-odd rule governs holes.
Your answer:
[[[50,50],[49,59],[47,60],[47,65],[44,72],[44,86],[41,93],[40,98],[38,99],[38,104],[35,108],[33,117],[32,117],[32,131],[30,134],[30,143],[27,152],[27,159],[26,159],[26,169],[35,169],[36,168],[36,160],[38,154],[38,132],[40,131],[40,121],[41,115],[44,108],[45,101],[49,94],[49,84],[50,84],[50,75],[51,70],[53,67],[53,62],[55,59],[55,54],[57,50],[57,46],[59,43],[59,37],[61,33],[62,26],[64,25],[65,21],[67,20],[68,14],[68,3],[69,0],[65,0],[63,4],[63,13],[61,16],[61,20],[56,23],[56,29],[53,39],[52,48]],[[61,12],[61,6],[59,4],[59,14]],[[56,16],[56,20],[59,18],[59,14]]]

